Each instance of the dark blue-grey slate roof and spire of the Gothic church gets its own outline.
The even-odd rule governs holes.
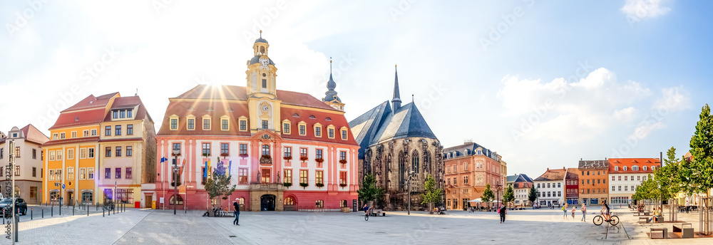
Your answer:
[[[364,149],[389,140],[407,137],[437,139],[426,119],[421,115],[414,102],[401,106],[399,98],[399,78],[394,80],[394,98],[384,101],[366,113],[349,122],[352,134],[361,147],[359,158],[364,158]]]

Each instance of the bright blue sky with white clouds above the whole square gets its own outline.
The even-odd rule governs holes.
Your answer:
[[[329,60],[352,120],[416,103],[444,147],[473,140],[538,177],[580,159],[689,150],[711,103],[710,1],[1,1],[0,131],[48,134],[88,95],[245,86],[260,36],[277,88],[323,98]]]

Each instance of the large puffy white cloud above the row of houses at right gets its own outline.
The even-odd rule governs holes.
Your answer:
[[[525,139],[581,142],[630,122],[637,115],[635,104],[650,98],[650,89],[632,80],[620,83],[605,68],[584,75],[573,83],[564,78],[542,83],[506,75],[498,91],[503,115],[521,118],[517,130]]]

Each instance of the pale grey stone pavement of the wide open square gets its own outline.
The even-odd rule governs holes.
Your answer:
[[[65,209],[61,217],[56,210],[45,219],[21,217],[19,244],[713,244],[713,239],[649,239],[650,227],[671,224],[638,224],[628,209],[614,209],[621,226],[595,226],[593,209],[586,222],[580,212],[563,219],[558,209],[510,211],[505,224],[494,212],[387,212],[369,221],[361,213],[242,212],[240,226],[232,225],[232,218],[201,217],[199,211],[127,209],[102,217],[101,212],[71,216]],[[679,214],[681,221],[697,219],[698,214]],[[0,238],[0,244],[10,243]]]

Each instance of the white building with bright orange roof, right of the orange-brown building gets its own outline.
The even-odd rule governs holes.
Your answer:
[[[609,159],[610,204],[627,204],[636,189],[661,166],[656,158],[611,158]]]

